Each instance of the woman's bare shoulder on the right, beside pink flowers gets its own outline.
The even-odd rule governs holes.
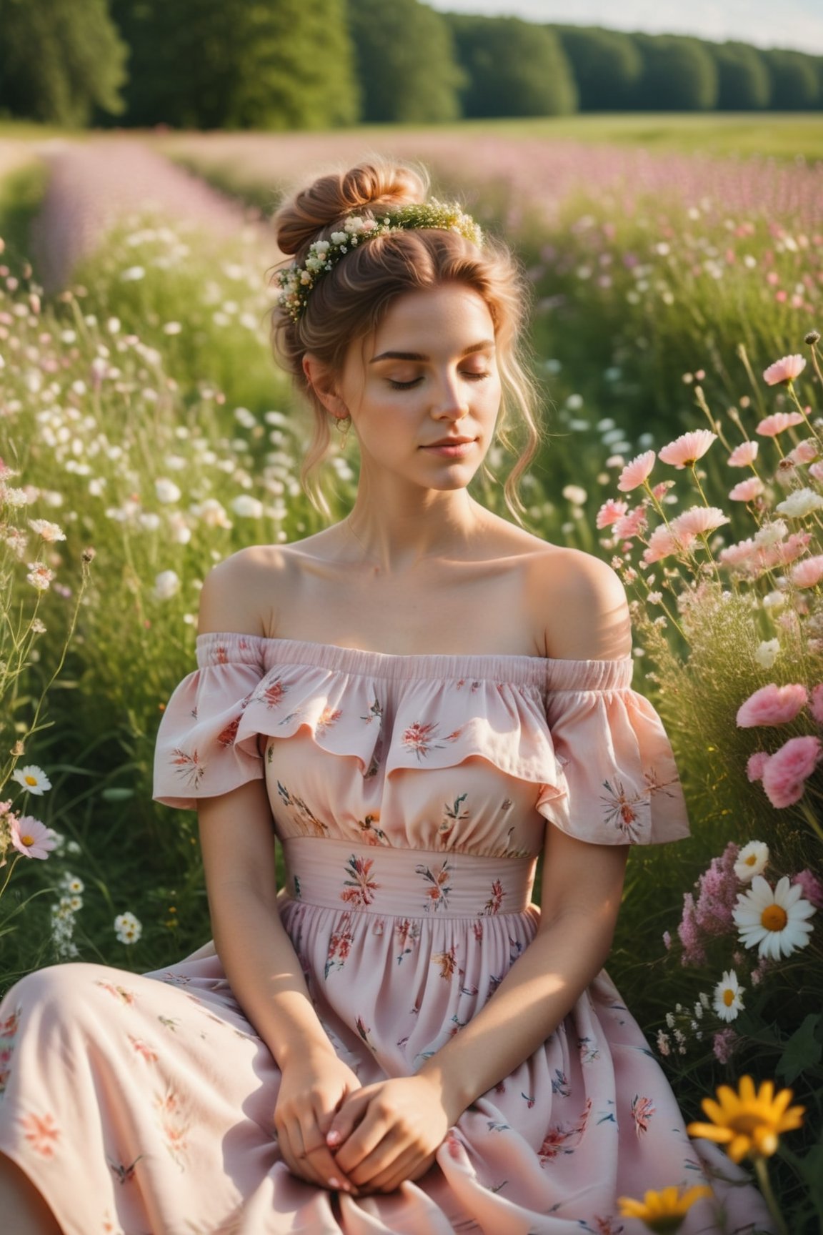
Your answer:
[[[608,562],[582,550],[547,546],[532,558],[528,592],[547,656],[600,661],[632,655],[626,588]]]

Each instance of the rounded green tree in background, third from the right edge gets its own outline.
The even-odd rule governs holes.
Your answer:
[[[718,73],[706,43],[679,35],[634,35],[643,56],[635,107],[640,111],[711,111]]]

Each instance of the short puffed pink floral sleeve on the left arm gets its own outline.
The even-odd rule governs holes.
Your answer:
[[[260,685],[265,641],[253,635],[201,635],[197,668],[174,690],[154,747],[155,802],[194,810],[263,777],[258,734],[243,716]]]

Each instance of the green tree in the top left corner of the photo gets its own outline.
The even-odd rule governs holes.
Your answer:
[[[0,109],[83,127],[123,110],[126,47],[106,0],[0,0]]]

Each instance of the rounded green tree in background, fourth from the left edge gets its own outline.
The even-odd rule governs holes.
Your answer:
[[[519,17],[448,16],[466,75],[466,116],[559,116],[577,88],[558,36]]]

